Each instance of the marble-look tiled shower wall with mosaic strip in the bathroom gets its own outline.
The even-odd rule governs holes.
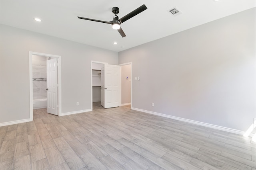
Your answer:
[[[47,98],[46,60],[48,60],[48,57],[32,56],[33,99]]]

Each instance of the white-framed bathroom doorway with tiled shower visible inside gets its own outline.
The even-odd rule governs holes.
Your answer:
[[[29,52],[29,61],[30,121],[33,120],[33,109],[47,108],[49,110],[48,113],[61,115],[61,57],[57,55]],[[48,61],[56,61],[54,63],[56,66],[56,78],[54,80],[54,82],[56,82],[54,92],[56,94],[55,100],[54,97],[49,96],[49,93],[52,91],[48,91],[48,89],[50,89],[49,82],[52,80],[52,76],[49,76],[50,69],[48,67]],[[52,112],[52,110],[55,111]]]

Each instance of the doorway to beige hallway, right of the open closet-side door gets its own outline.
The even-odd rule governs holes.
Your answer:
[[[132,62],[121,66],[121,106],[132,107]]]

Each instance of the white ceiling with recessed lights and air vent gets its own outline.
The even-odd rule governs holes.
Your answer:
[[[147,10],[121,24],[124,38],[110,24],[77,18],[112,21],[112,7],[120,8],[122,18],[143,4]],[[173,7],[182,14],[168,13]],[[253,7],[256,0],[0,0],[0,23],[123,51]]]

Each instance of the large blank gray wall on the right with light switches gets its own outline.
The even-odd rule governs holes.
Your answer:
[[[134,108],[240,131],[256,117],[255,59],[256,8],[119,52],[140,76]]]

